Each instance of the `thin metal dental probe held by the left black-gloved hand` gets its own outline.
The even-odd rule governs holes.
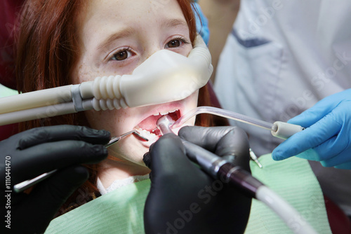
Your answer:
[[[146,142],[149,141],[149,139],[143,137],[142,135],[140,135],[140,132],[138,132],[137,130],[131,130],[130,132],[126,132],[122,135],[120,135],[119,137],[112,137],[110,139],[110,142],[108,142],[107,144],[105,144],[105,147],[110,147],[112,146],[112,144],[115,144],[116,142],[118,142],[120,139],[122,139],[123,137],[126,137],[128,135],[134,134],[138,137],[140,137],[141,139],[145,140]],[[33,186],[34,184],[39,183],[40,181],[43,181],[44,179],[48,178],[51,176],[51,174],[57,172],[57,169],[52,170],[51,172],[46,172],[44,174],[39,175],[39,177],[35,177],[33,179],[28,179],[26,181],[23,181],[19,184],[15,184],[15,186],[13,186],[13,191],[15,191],[15,193],[20,193],[22,191],[25,191],[27,188]]]

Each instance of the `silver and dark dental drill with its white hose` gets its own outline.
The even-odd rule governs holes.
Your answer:
[[[175,124],[169,116],[162,116],[157,121],[157,128],[159,128],[162,135],[174,134],[171,130],[172,125]],[[262,182],[258,181],[258,179],[251,176],[249,172],[246,172],[241,167],[233,165],[225,160],[225,158],[220,158],[216,156],[216,154],[196,144],[187,142],[184,139],[181,140],[185,147],[187,157],[194,163],[197,163],[201,169],[211,175],[213,179],[220,179],[225,183],[232,184],[232,186],[241,189],[246,195],[251,196],[251,198],[256,198],[264,202],[265,205],[270,207],[270,209],[281,217],[286,225],[291,228],[293,233],[317,234],[316,230],[310,226],[310,223],[303,219],[303,216],[301,216],[295,208]],[[292,221],[294,226],[290,225]]]

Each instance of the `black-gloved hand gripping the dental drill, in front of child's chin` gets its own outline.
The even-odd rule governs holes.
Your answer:
[[[232,163],[249,170],[243,130],[185,127],[179,135],[218,156],[232,156]],[[251,198],[194,165],[179,137],[164,135],[144,158],[152,170],[144,212],[146,233],[244,233]]]

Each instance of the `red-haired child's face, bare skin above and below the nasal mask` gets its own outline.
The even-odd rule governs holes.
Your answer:
[[[90,0],[78,28],[81,57],[73,83],[92,81],[97,76],[131,74],[158,50],[187,56],[192,50],[189,28],[176,0]],[[92,128],[119,136],[134,128],[156,128],[154,115],[176,111],[178,118],[197,106],[198,92],[178,102],[114,111],[86,111]],[[187,125],[194,125],[194,119]],[[145,167],[143,154],[155,142],[130,135],[109,148],[110,155],[126,159],[128,165]]]

